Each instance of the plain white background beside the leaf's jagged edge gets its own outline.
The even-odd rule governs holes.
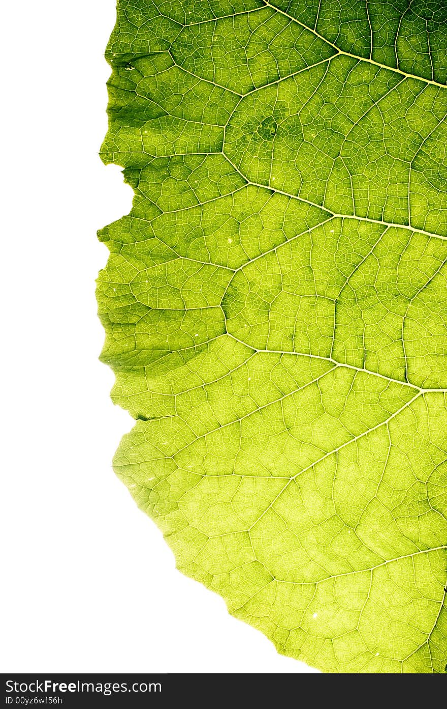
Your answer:
[[[312,672],[175,570],[110,467],[95,231],[129,211],[97,155],[115,0],[2,11],[1,671]]]

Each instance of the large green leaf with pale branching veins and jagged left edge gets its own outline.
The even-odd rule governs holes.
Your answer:
[[[178,568],[327,672],[447,664],[447,10],[119,0],[115,470]]]

